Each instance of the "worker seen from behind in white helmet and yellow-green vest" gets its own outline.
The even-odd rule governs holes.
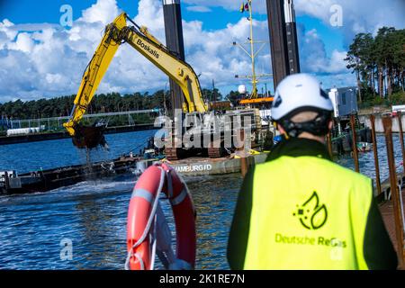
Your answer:
[[[271,116],[283,135],[250,167],[231,224],[231,269],[396,269],[372,180],[331,161],[333,105],[313,76],[287,76]]]

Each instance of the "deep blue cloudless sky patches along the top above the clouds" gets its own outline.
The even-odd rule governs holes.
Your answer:
[[[63,4],[70,4],[73,8],[73,18],[81,16],[82,10],[96,3],[96,0],[19,0],[2,1],[0,19],[8,19],[12,23],[59,23],[60,14],[56,13]],[[137,0],[117,0],[120,8],[133,16],[138,13]],[[225,28],[228,23],[236,23],[242,17],[238,11],[239,4],[235,1],[235,9],[228,10],[223,7],[211,8],[210,13],[189,11],[187,7],[193,4],[182,4],[182,16],[186,21],[198,20],[202,22],[202,28],[215,31]],[[254,14],[255,19],[266,21],[266,14]],[[215,19],[215,21],[213,20]],[[326,25],[315,17],[303,15],[297,17],[297,23],[302,23],[307,30],[317,29],[320,37],[325,41],[327,52],[333,49],[343,49],[343,36],[339,29]],[[260,37],[263,36],[263,37]],[[257,38],[268,38],[267,35],[257,35]]]

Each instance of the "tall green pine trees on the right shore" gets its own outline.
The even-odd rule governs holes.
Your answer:
[[[358,33],[347,51],[347,68],[356,75],[359,103],[395,102],[405,88],[405,30],[380,28]],[[403,96],[402,96],[403,97]],[[403,100],[403,99],[402,99]]]

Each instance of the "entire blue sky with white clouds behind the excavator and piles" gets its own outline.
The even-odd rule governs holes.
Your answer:
[[[326,88],[354,85],[354,77],[346,69],[343,58],[356,32],[374,32],[383,24],[404,28],[401,15],[404,1],[388,2],[391,5],[379,0],[294,1],[302,71],[319,76]],[[238,11],[241,3],[182,0],[186,60],[197,74],[202,74],[202,86],[211,87],[211,80],[215,79],[222,94],[236,90],[239,84],[247,84],[233,77],[249,70],[248,58],[242,51],[231,48],[233,40],[243,41],[248,36],[247,14]],[[72,27],[60,27],[59,9],[63,4],[70,4],[73,9]],[[254,0],[253,4],[257,21],[255,37],[268,40],[266,1]],[[329,23],[332,4],[339,4],[343,9],[341,27]],[[76,93],[104,25],[120,11],[146,24],[164,41],[160,0],[0,0],[0,66],[3,67],[0,68],[0,102]],[[99,92],[153,92],[165,87],[166,76],[129,48],[122,48],[116,58]],[[258,63],[259,73],[271,72],[268,45]],[[122,76],[117,77],[118,73]],[[265,83],[274,91],[271,79],[261,85]]]

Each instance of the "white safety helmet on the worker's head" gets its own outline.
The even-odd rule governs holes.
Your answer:
[[[292,117],[304,111],[333,111],[329,95],[320,87],[320,82],[308,74],[287,76],[277,86],[272,105],[274,121]]]

